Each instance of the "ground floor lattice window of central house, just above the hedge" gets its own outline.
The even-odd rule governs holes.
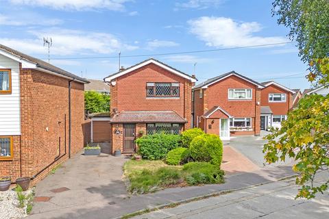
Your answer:
[[[167,134],[180,134],[182,125],[178,123],[148,123],[147,134],[152,135],[154,133],[167,133]]]

